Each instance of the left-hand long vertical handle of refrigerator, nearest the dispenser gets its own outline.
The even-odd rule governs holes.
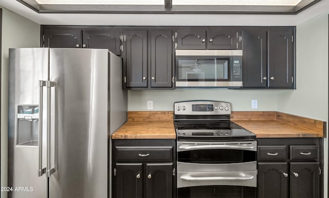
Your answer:
[[[43,87],[45,81],[39,81],[39,168],[38,176],[42,176],[46,172],[46,168],[42,168],[42,111],[43,111]]]

